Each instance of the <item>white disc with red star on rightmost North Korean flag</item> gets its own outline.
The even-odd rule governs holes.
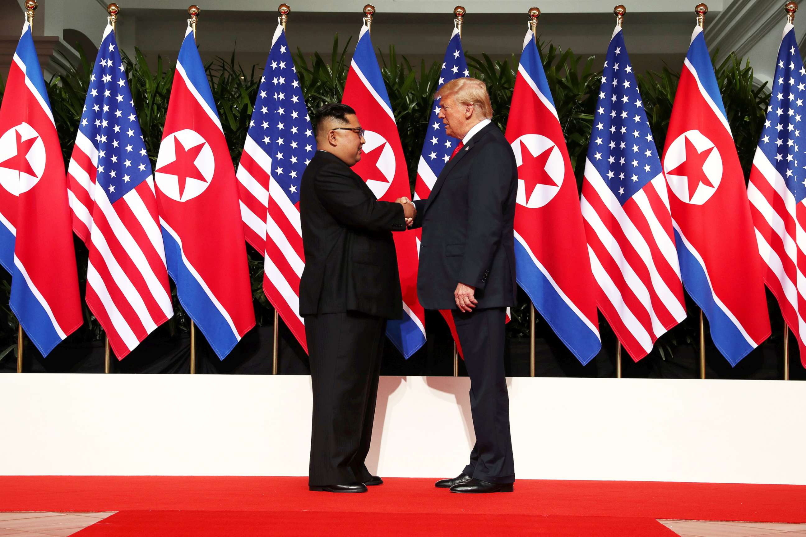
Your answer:
[[[669,145],[663,172],[671,192],[688,204],[701,205],[722,181],[722,157],[699,130],[687,130]]]

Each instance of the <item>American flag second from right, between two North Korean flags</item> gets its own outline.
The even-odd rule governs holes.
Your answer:
[[[663,169],[620,27],[602,73],[581,204],[596,302],[638,361],[686,310]]]

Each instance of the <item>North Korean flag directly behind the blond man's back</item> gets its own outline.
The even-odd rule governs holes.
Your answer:
[[[587,364],[601,348],[596,283],[563,128],[532,31],[526,32],[506,127],[517,162],[517,283]]]

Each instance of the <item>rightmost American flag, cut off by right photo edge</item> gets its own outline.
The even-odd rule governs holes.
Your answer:
[[[806,366],[806,143],[800,138],[804,101],[806,69],[795,27],[787,23],[747,196],[758,250],[766,264],[764,281],[797,337],[800,361]]]

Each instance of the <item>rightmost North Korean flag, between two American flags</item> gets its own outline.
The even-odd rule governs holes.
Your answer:
[[[696,27],[663,150],[683,286],[732,366],[770,335],[762,259],[725,105]]]

